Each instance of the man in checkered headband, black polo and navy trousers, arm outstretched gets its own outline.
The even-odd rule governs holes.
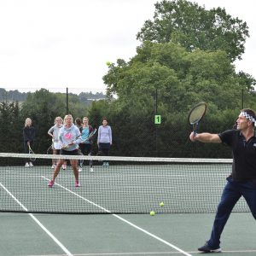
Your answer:
[[[247,201],[253,218],[256,219],[256,137],[254,132],[256,117],[253,110],[242,109],[236,124],[237,130],[228,130],[219,134],[191,132],[189,136],[192,142],[227,144],[233,152],[232,173],[227,177],[227,183],[218,204],[211,237],[204,246],[198,248],[204,253],[221,252],[219,246],[221,233],[241,196]]]

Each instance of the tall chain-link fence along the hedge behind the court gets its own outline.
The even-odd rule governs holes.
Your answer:
[[[241,94],[242,96],[242,94]],[[172,97],[172,101],[170,100]],[[175,100],[173,100],[173,98]],[[241,103],[246,104],[246,96]],[[170,96],[167,91],[155,90],[148,96],[147,104],[132,102],[129,107],[109,100],[104,92],[93,90],[69,90],[62,92],[37,90],[20,93],[18,90],[0,90],[0,143],[2,152],[23,153],[22,128],[26,117],[32,119],[36,129],[34,151],[46,154],[51,143],[49,128],[54,125],[56,116],[62,118],[71,113],[73,119],[87,116],[90,125],[102,125],[102,117],[108,118],[113,132],[112,155],[159,156],[159,157],[204,157],[230,158],[230,149],[222,145],[191,143],[188,110],[184,99]],[[240,105],[239,102],[237,105]],[[211,106],[210,106],[211,107]],[[199,131],[220,132],[231,129],[241,106],[226,108],[221,115],[209,108],[202,120]],[[96,154],[96,142],[93,144]]]

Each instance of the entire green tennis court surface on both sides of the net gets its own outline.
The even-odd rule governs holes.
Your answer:
[[[53,171],[39,159],[32,168],[2,166],[0,255],[196,255],[210,236],[230,163],[110,163],[96,159],[94,172],[85,166],[80,188],[70,166],[53,188]],[[255,221],[243,201],[236,211],[222,255],[255,255]]]

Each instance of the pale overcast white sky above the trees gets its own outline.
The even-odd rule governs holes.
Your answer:
[[[105,91],[107,61],[129,61],[156,0],[0,0],[0,88]],[[197,0],[246,21],[250,38],[236,71],[256,78],[253,0]],[[254,20],[253,20],[254,19]]]

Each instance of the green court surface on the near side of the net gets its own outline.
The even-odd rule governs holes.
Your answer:
[[[212,229],[212,213],[0,213],[1,256],[198,255]],[[232,213],[222,236],[223,256],[256,254],[250,213]]]

